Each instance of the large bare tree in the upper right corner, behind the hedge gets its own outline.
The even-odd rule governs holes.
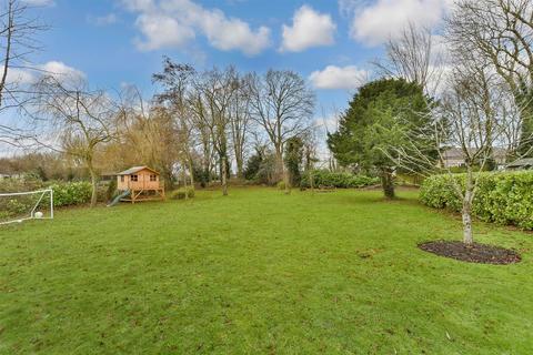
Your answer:
[[[531,0],[460,0],[447,20],[455,48],[490,61],[522,108],[517,154],[533,141],[533,3]]]

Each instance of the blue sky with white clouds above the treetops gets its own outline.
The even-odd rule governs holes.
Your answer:
[[[372,75],[382,43],[409,21],[436,26],[447,0],[26,0],[51,29],[39,65],[93,87],[135,84],[150,95],[162,55],[198,69],[298,71],[316,116],[345,108]],[[48,65],[48,67],[47,67]]]

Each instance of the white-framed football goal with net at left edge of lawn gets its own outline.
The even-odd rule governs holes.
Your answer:
[[[0,193],[0,225],[53,219],[53,191]]]

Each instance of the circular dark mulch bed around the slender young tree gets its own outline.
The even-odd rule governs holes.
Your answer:
[[[506,265],[522,260],[515,251],[479,243],[467,245],[457,241],[434,241],[419,244],[419,247],[467,263]]]

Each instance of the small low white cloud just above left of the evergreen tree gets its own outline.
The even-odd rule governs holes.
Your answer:
[[[355,65],[335,67],[328,65],[324,70],[314,71],[309,80],[316,89],[344,89],[354,90],[368,81],[370,73]]]

